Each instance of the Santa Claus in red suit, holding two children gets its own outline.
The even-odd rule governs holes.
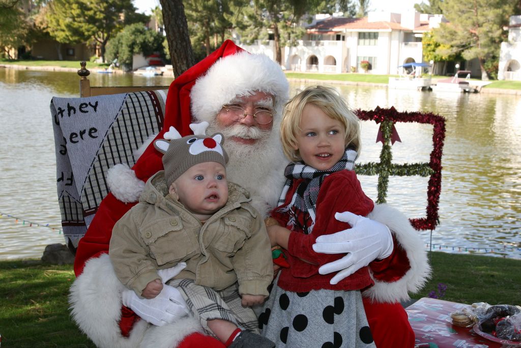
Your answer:
[[[283,169],[288,160],[281,150],[279,122],[288,97],[289,84],[278,64],[226,41],[172,82],[164,127],[156,139],[162,139],[170,126],[184,136],[191,133],[190,123],[208,121],[208,134],[220,132],[226,138],[228,179],[249,190],[252,204],[268,216],[285,180]],[[230,104],[244,109],[241,117],[227,112],[224,106]],[[258,107],[272,111],[272,122],[257,122]],[[135,177],[125,185],[146,181],[162,170],[160,153],[148,146],[132,169]],[[77,279],[70,293],[73,318],[102,347],[224,346],[204,335],[199,322],[185,315],[176,289],[170,287],[173,290],[156,302],[125,295],[126,288],[116,278],[107,252],[114,223],[134,204],[129,201],[117,187],[111,187],[79,242]],[[364,291],[364,309],[376,345],[412,347],[414,333],[400,301],[423,286],[430,269],[423,242],[407,218],[389,206],[376,205],[368,218],[360,218],[353,228],[330,236],[331,240],[315,244],[315,251],[345,256],[322,266],[320,272],[340,270],[331,280],[338,282],[369,266],[375,285]],[[354,243],[353,236],[357,239]],[[373,245],[369,252],[359,252],[367,245]]]

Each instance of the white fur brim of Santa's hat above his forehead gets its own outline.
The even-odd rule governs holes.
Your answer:
[[[274,95],[276,115],[281,117],[289,97],[289,83],[280,65],[264,54],[239,52],[222,57],[193,85],[192,115],[211,123],[223,104],[253,91]]]

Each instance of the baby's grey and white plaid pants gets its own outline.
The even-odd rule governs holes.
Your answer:
[[[212,319],[227,320],[241,329],[261,332],[252,308],[241,305],[237,283],[220,291],[197,285],[192,279],[173,279],[168,284],[181,292],[190,313],[199,319],[207,334],[215,337],[207,325]]]

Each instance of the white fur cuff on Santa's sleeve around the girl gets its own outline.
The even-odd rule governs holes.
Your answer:
[[[389,227],[396,241],[404,248],[411,268],[398,281],[384,282],[374,279],[375,285],[364,291],[364,296],[378,302],[407,301],[410,299],[408,293],[421,290],[430,276],[431,270],[423,241],[409,220],[386,204],[375,205],[373,212],[367,217]]]

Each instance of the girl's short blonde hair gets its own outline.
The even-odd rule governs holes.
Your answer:
[[[362,146],[360,120],[337,90],[317,85],[306,87],[302,92],[291,98],[284,107],[280,122],[280,140],[286,157],[291,161],[302,159],[299,151],[293,150],[293,147],[297,143],[296,134],[301,131],[302,110],[307,104],[319,107],[329,118],[340,121],[345,128],[345,148],[349,147],[358,154],[360,153]]]

